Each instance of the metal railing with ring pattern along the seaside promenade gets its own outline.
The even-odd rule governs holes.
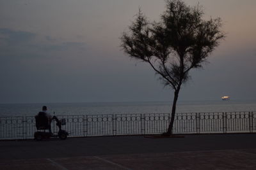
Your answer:
[[[66,115],[63,129],[72,137],[160,134],[168,128],[170,113]],[[0,117],[0,139],[32,139],[35,117]],[[52,131],[58,127],[52,123]],[[256,132],[256,112],[177,113],[175,134]]]

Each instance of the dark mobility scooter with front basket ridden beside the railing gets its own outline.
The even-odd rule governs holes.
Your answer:
[[[53,134],[51,130],[51,121],[49,122],[49,118],[44,112],[39,112],[36,118],[36,131],[34,133],[34,137],[37,141],[41,141],[44,138],[60,138],[66,139],[68,136],[68,132],[61,129],[61,125],[65,125],[65,119],[59,120],[56,116],[52,117],[52,120],[56,120],[56,125],[59,128],[57,134]]]

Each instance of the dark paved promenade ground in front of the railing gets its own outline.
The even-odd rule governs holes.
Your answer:
[[[0,169],[256,169],[256,134],[0,141]]]

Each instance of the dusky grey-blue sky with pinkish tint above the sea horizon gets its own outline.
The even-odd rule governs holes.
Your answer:
[[[179,100],[256,100],[256,1],[185,3],[220,17],[227,37]],[[165,2],[0,0],[0,103],[172,101],[151,67],[120,48],[139,8],[158,21]]]

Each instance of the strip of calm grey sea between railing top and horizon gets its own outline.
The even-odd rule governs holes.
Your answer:
[[[172,101],[126,103],[0,104],[0,117],[33,116],[47,106],[52,115],[170,113]],[[256,101],[179,101],[177,113],[256,111]]]

